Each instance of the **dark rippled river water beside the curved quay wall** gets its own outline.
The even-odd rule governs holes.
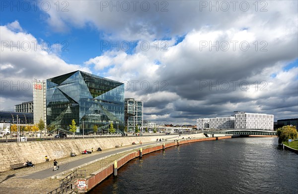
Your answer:
[[[130,161],[90,194],[298,194],[298,154],[276,137],[183,144]]]

